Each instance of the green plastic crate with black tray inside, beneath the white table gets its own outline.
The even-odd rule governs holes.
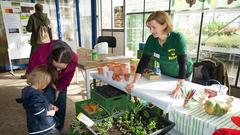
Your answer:
[[[108,93],[106,93],[106,91]],[[104,107],[109,113],[129,109],[130,97],[125,92],[110,85],[97,86],[91,90],[91,99]]]

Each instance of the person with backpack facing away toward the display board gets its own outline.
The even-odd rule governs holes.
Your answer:
[[[37,37],[38,37],[38,31],[40,26],[47,26],[48,27],[48,34],[50,37],[50,40],[52,40],[52,34],[51,34],[51,28],[50,28],[50,20],[47,17],[47,14],[43,13],[43,6],[39,3],[35,5],[35,13],[32,14],[29,17],[26,30],[28,32],[31,32],[31,39],[30,39],[30,45],[32,46],[31,52],[30,52],[30,58],[32,56],[32,53],[34,53],[40,46],[40,44],[37,43]],[[21,76],[22,79],[26,78],[26,73]]]

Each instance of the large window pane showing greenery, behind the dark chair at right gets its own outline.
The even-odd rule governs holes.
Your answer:
[[[223,61],[231,85],[235,83],[240,59],[239,14],[240,11],[212,11],[204,16],[200,58],[214,56]]]

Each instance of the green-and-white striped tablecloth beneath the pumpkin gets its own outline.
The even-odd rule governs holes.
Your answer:
[[[169,112],[169,120],[175,122],[174,129],[183,135],[211,135],[219,128],[240,130],[231,122],[232,116],[240,115],[240,100],[235,98],[232,105],[232,110],[222,116],[208,115],[197,104],[189,108],[176,107]]]

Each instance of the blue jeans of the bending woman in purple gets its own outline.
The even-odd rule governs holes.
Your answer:
[[[64,127],[64,120],[66,115],[66,101],[67,101],[67,92],[61,91],[56,99],[56,91],[51,88],[45,88],[43,95],[48,99],[48,101],[58,107],[58,111],[56,112],[55,116],[58,119],[59,125],[57,126],[58,130],[63,129]]]

